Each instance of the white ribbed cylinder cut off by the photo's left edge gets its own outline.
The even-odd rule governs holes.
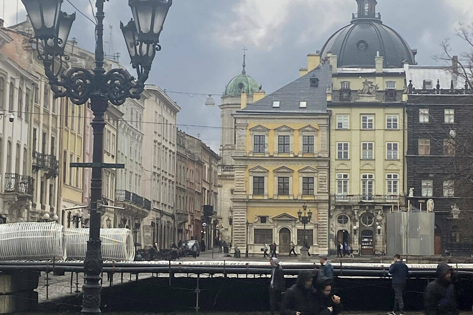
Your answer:
[[[0,224],[1,260],[63,260],[63,226],[56,222]]]

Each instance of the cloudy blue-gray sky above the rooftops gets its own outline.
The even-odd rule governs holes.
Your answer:
[[[88,0],[69,1],[93,19]],[[94,24],[69,1],[64,0],[62,10],[77,12],[70,38],[93,50]],[[123,64],[129,57],[119,21],[131,17],[127,2],[105,3],[105,48],[107,53],[120,52]],[[0,5],[6,26],[25,19],[21,0],[18,10],[16,0],[0,0]],[[383,23],[418,49],[419,64],[434,64],[432,56],[440,52],[445,38],[452,39],[455,53],[468,49],[455,39],[455,28],[459,22],[473,21],[473,1],[378,0],[377,11]],[[348,24],[352,12],[356,12],[355,0],[174,0],[160,37],[163,50],[156,56],[148,82],[167,89],[182,107],[179,127],[200,134],[218,152],[218,94],[241,72],[242,48],[248,48],[247,74],[270,93],[296,79],[298,69],[306,66],[307,54],[321,49],[333,32]],[[213,94],[216,105],[208,108],[204,96],[171,91]]]

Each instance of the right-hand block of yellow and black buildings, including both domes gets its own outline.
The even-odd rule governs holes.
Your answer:
[[[417,65],[376,0],[357,4],[298,79],[266,95],[244,64],[226,85],[221,235],[250,253],[272,242],[289,252],[293,241],[373,255],[394,237],[389,213],[427,211],[435,222],[406,229],[406,247],[433,239],[431,254],[470,255],[472,86],[456,57]]]

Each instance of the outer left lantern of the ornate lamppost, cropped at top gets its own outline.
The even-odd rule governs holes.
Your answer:
[[[21,0],[26,8],[36,38],[56,37],[63,0]]]

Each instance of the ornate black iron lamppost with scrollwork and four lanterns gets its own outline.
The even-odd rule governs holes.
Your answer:
[[[103,163],[104,113],[108,102],[121,105],[127,98],[139,99],[144,83],[151,71],[156,51],[161,49],[159,35],[172,0],[128,0],[133,19],[120,27],[131,58],[131,65],[137,71],[137,79],[124,69],[112,69],[105,73],[103,68],[103,5],[105,0],[96,0],[95,26],[95,69],[73,67],[64,71],[63,61],[67,38],[75,14],[61,11],[63,0],[21,0],[25,5],[34,29],[32,43],[36,45],[38,59],[43,62],[46,77],[55,97],[69,97],[77,105],[90,100],[94,119],[93,162],[79,167],[92,167],[90,237],[84,261],[85,283],[82,300],[82,314],[100,314],[100,274],[102,256],[100,250],[100,217],[103,206],[102,168],[117,168],[117,164]]]

